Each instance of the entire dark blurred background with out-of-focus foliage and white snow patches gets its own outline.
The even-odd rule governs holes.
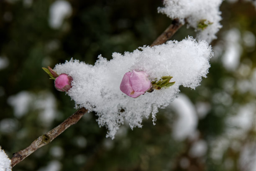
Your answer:
[[[172,20],[161,0],[0,0],[0,146],[11,158],[76,111],[41,69],[150,45]],[[215,56],[196,90],[143,128],[105,138],[87,113],[13,171],[253,171],[256,163],[256,7],[224,1]],[[183,26],[172,40],[194,36]],[[181,110],[184,109],[184,110]],[[254,168],[254,169],[253,169]]]

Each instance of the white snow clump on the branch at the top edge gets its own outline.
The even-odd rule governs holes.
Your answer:
[[[195,28],[199,33],[197,38],[206,40],[210,43],[217,37],[215,34],[222,27],[220,25],[220,4],[223,0],[164,0],[164,7],[158,8],[159,13],[166,14],[169,18],[178,18],[181,22],[188,23],[190,27]],[[198,28],[198,24],[205,21],[208,24],[206,28]]]

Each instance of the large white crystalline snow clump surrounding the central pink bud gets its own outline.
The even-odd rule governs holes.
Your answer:
[[[85,107],[95,111],[100,126],[108,128],[108,135],[114,138],[118,127],[128,121],[131,128],[141,127],[143,116],[152,113],[156,120],[158,108],[164,108],[174,100],[179,86],[195,89],[202,77],[206,77],[212,49],[205,41],[196,42],[189,37],[180,42],[169,41],[154,47],[144,46],[133,52],[113,53],[108,61],[99,55],[95,65],[78,60],[58,64],[54,70],[73,77],[72,88],[68,95],[75,101],[76,107]],[[131,98],[120,91],[123,75],[132,70],[143,70],[151,81],[162,76],[173,76],[176,83],[138,98]]]

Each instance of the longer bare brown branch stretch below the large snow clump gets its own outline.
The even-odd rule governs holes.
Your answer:
[[[30,146],[27,148],[14,153],[13,158],[11,159],[11,166],[15,166],[17,163],[22,161],[24,158],[29,156],[31,153],[36,151],[38,148],[41,148],[42,146],[45,146],[46,144],[49,144],[54,138],[59,136],[62,132],[64,132],[69,126],[72,126],[79,121],[82,116],[87,112],[88,110],[85,108],[80,108],[76,113],[74,113],[72,116],[69,116],[64,122],[59,124],[59,126],[56,126],[54,129],[49,131],[48,133],[38,137],[35,141],[31,143]]]

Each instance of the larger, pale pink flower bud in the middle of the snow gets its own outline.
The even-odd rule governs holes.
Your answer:
[[[126,95],[136,98],[151,88],[152,84],[148,79],[148,74],[144,71],[125,73],[120,84],[120,90]]]

